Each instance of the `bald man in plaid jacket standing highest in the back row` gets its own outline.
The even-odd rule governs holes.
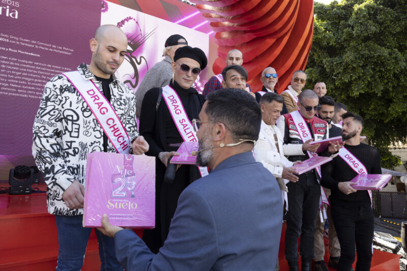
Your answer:
[[[230,66],[230,65],[242,66],[243,54],[238,49],[232,49],[229,52],[227,52],[225,60],[226,60],[226,67]],[[247,79],[248,78],[246,78],[246,80]],[[207,96],[211,92],[221,89],[222,81],[224,81],[224,80],[225,80],[225,78],[223,78],[221,73],[209,78],[208,82],[205,84],[205,87],[203,87],[202,95]],[[246,91],[251,93],[250,85],[248,83],[245,83],[245,85],[246,85],[246,87],[245,87]]]

